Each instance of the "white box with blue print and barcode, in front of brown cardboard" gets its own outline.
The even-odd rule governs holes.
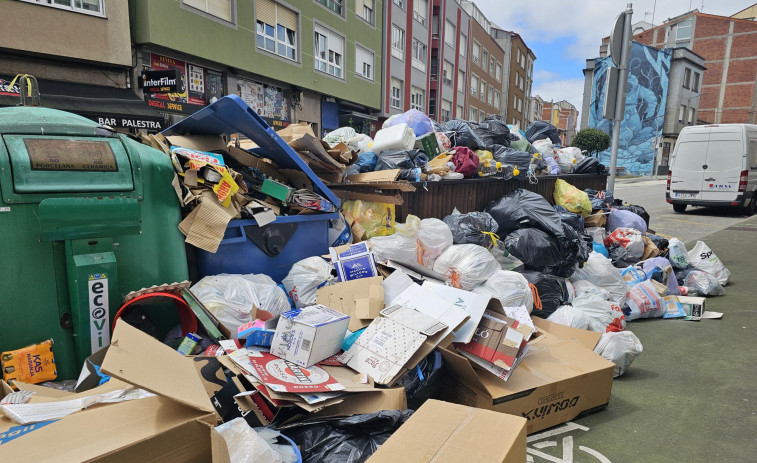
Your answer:
[[[349,315],[320,304],[284,312],[271,354],[306,368],[315,365],[339,353],[349,323]]]

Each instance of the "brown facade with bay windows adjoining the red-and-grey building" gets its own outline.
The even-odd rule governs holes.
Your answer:
[[[470,76],[468,104],[464,118],[481,122],[490,115],[504,118],[505,100],[502,98],[505,51],[490,35],[491,23],[475,3],[463,1],[463,9],[473,19],[468,47]]]

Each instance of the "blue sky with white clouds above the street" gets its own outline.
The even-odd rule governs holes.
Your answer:
[[[633,22],[658,26],[693,9],[730,16],[757,0],[641,0],[633,2]],[[599,45],[625,0],[475,0],[490,21],[521,35],[536,55],[531,95],[545,101],[568,100],[580,112],[586,60],[599,56]],[[654,18],[653,18],[654,13]]]

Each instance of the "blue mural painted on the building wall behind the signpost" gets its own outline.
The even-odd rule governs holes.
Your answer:
[[[589,127],[612,136],[614,121],[602,118],[607,70],[610,58],[594,60]],[[631,44],[628,61],[626,112],[620,122],[618,167],[630,175],[650,175],[654,164],[655,141],[662,138],[662,122],[668,96],[670,53],[639,43]],[[599,153],[599,162],[610,165],[610,149]]]

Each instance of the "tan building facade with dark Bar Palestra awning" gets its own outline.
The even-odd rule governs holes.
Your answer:
[[[126,131],[165,126],[132,90],[126,2],[3,2],[0,18],[0,106],[19,104],[14,77],[30,74],[39,83],[41,106]]]

